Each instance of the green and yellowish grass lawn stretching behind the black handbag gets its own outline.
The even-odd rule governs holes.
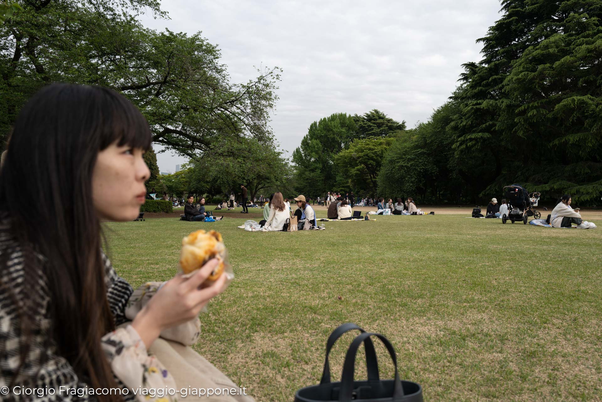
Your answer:
[[[137,287],[175,274],[186,234],[223,234],[236,277],[201,315],[195,348],[258,402],[317,384],[326,338],[348,321],[393,343],[425,401],[602,400],[602,214],[582,211],[598,228],[578,230],[426,209],[436,215],[297,233],[238,229],[262,212],[238,209],[214,223],[113,222],[107,235],[115,269]],[[332,352],[334,379],[352,336]],[[392,378],[385,348],[377,354]]]

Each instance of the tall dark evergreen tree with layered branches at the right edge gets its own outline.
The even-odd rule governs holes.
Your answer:
[[[482,61],[464,64],[461,111],[450,125],[458,157],[483,159],[483,197],[522,183],[548,200],[602,192],[602,3],[506,0]],[[489,160],[489,162],[487,162]]]

